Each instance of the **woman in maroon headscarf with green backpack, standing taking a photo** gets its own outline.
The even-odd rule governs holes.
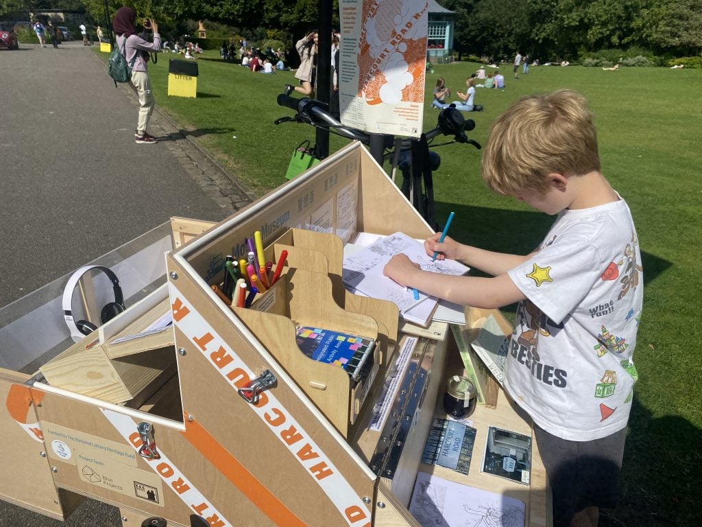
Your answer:
[[[159,25],[155,20],[146,18],[143,25],[142,35],[136,33],[136,14],[132,8],[121,7],[114,15],[112,27],[117,34],[117,48],[126,58],[132,69],[131,86],[139,98],[139,119],[134,134],[134,140],[141,145],[151,145],[156,143],[156,138],[146,131],[149,118],[154,112],[154,94],[151,91],[151,82],[147,72],[147,62],[150,51],[161,51],[161,35],[159,35]],[[154,40],[147,40],[148,32],[154,32]]]

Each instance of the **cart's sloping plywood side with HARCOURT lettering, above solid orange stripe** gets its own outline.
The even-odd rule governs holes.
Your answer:
[[[372,497],[375,476],[241,321],[173,256],[167,263],[178,277],[169,286],[185,414],[304,524],[350,524],[350,511],[370,519],[363,498]],[[238,389],[264,370],[277,382],[255,405],[246,402]]]

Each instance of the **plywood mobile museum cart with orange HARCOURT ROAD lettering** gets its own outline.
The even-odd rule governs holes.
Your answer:
[[[174,226],[167,285],[34,375],[0,370],[4,500],[62,519],[93,497],[117,505],[125,526],[154,516],[190,526],[197,515],[211,526],[418,527],[408,507],[427,471],[516,497],[525,525],[550,525],[536,441],[529,486],[482,474],[478,461],[467,475],[420,462],[433,419],[444,417],[446,379],[463,366],[450,331],[398,332],[394,304],[343,289],[343,245],[355,233],[431,232],[361,145],[222,223]],[[255,230],[267,259],[288,251],[285,272],[251,308],[231,308],[211,285]],[[172,329],[115,342],[164,311]],[[469,330],[491,313],[505,323],[468,310]],[[364,377],[303,356],[296,322],[373,337]],[[412,367],[398,372],[402,357]],[[402,389],[370,427],[397,375]],[[476,459],[491,425],[531,436],[503,393],[472,420]]]

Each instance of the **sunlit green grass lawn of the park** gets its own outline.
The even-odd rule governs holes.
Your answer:
[[[180,123],[256,195],[284,183],[291,152],[314,130],[275,126],[293,112],[275,100],[292,72],[254,74],[223,63],[214,52],[197,61],[197,98],[166,95],[168,59],[150,65],[157,106]],[[103,54],[106,56],[106,54]],[[441,75],[453,93],[465,90],[475,63],[435,66],[426,79],[425,129],[435,126],[432,88]],[[531,67],[504,91],[477,89],[472,113],[484,143],[490,123],[519,96],[576,89],[590,101],[600,138],[602,169],[633,212],[644,266],[644,311],[635,361],[640,380],[624,457],[620,507],[607,514],[624,526],[697,526],[702,484],[702,339],[696,325],[702,240],[701,70],[578,66]],[[332,138],[331,150],[347,141]],[[451,235],[487,249],[528,252],[552,218],[491,193],[480,177],[480,152],[468,145],[437,150],[437,218],[456,212]]]

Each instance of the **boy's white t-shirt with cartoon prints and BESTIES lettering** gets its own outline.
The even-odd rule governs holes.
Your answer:
[[[508,275],[519,303],[505,389],[539,427],[591,441],[626,426],[643,279],[624,200],[559,214],[533,258]]]

